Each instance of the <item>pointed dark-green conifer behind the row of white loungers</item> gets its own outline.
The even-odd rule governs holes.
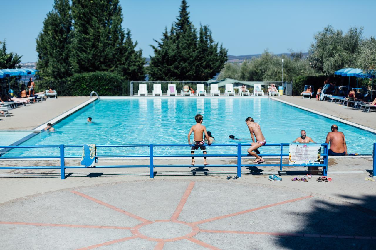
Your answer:
[[[227,60],[227,50],[212,39],[207,26],[197,30],[189,18],[188,4],[182,0],[179,16],[170,32],[162,33],[157,46],[151,45],[155,56],[150,57],[148,72],[151,80],[201,80],[212,78],[223,68]]]

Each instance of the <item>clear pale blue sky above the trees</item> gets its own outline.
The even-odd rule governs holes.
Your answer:
[[[143,55],[153,54],[149,44],[159,39],[164,27],[178,15],[180,0],[120,0],[123,28],[132,31]],[[376,36],[371,0],[188,0],[191,21],[196,27],[208,24],[215,41],[232,55],[259,54],[268,48],[279,54],[308,51],[313,35],[331,24],[346,31],[363,26],[364,36]],[[0,14],[0,39],[8,52],[23,55],[22,62],[37,60],[35,38],[42,29],[53,0],[5,0]]]

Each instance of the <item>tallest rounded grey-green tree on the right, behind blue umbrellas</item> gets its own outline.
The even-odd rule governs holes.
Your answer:
[[[314,36],[309,49],[312,67],[325,75],[333,75],[341,68],[354,67],[360,51],[363,28],[350,28],[345,35],[342,30],[327,26]]]

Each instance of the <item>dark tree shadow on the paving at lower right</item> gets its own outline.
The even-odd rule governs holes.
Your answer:
[[[296,236],[278,236],[276,244],[284,249],[375,249],[376,196],[340,197],[359,205],[315,199],[309,211],[289,213],[299,218],[299,229],[288,232]]]

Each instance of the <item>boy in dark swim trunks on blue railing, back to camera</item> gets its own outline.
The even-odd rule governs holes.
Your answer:
[[[206,132],[206,127],[201,125],[202,120],[203,120],[202,115],[196,114],[194,119],[196,120],[196,125],[193,125],[191,127],[191,130],[188,133],[188,144],[192,144],[191,143],[192,132],[193,132],[193,135],[194,135],[193,136],[193,145],[194,146],[191,147],[191,155],[194,155],[194,151],[199,149],[199,147],[200,147],[201,151],[203,152],[203,154],[206,155],[206,147],[203,146],[205,144],[203,134],[205,134],[205,137],[208,139],[208,145],[211,145],[211,142],[210,142],[208,133]],[[204,165],[207,165],[207,164],[208,163],[206,163],[206,156],[204,156]],[[192,157],[192,164],[191,165],[194,165],[194,157]]]

